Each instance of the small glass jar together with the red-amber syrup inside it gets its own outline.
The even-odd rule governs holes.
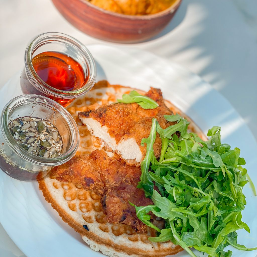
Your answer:
[[[36,36],[27,46],[24,60],[22,93],[51,98],[63,107],[86,94],[96,80],[91,53],[82,43],[62,33]]]

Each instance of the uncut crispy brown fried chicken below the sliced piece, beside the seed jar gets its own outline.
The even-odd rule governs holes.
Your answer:
[[[89,156],[76,156],[55,167],[52,173],[61,182],[73,182],[101,196],[106,221],[130,225],[138,232],[145,231],[146,225],[136,217],[135,208],[129,204],[129,201],[137,206],[153,204],[145,198],[142,189],[136,188],[140,168],[110,157],[104,150],[95,150]]]

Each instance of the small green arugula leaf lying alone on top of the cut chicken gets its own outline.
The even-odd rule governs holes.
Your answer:
[[[155,109],[159,106],[153,99],[148,96],[143,96],[137,93],[137,91],[132,90],[129,94],[122,95],[122,99],[117,99],[118,103],[132,104],[137,103],[143,109]]]

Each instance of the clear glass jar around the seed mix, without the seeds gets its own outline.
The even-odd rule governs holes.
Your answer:
[[[38,117],[49,121],[59,131],[63,148],[61,155],[44,158],[23,149],[11,134],[8,124],[19,117]],[[22,95],[8,102],[0,120],[0,168],[12,178],[33,181],[48,171],[69,161],[79,146],[79,131],[68,111],[49,98]]]

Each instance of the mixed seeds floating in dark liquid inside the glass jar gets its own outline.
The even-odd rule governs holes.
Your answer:
[[[49,121],[37,117],[21,117],[11,121],[9,128],[17,143],[29,153],[44,158],[61,155],[62,137]]]

